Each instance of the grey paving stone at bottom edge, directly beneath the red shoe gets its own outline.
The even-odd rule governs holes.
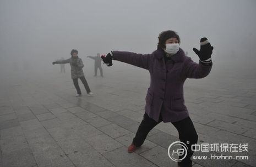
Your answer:
[[[111,152],[104,153],[103,155],[116,167],[148,167],[152,165],[149,160],[139,156],[137,153],[127,153],[126,147],[117,148]]]

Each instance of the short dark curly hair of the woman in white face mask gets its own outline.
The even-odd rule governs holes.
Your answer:
[[[181,42],[177,32],[172,31],[172,30],[162,31],[158,36],[159,41],[158,41],[158,44],[157,44],[157,49],[165,48],[165,42],[169,38],[177,38],[178,43]]]

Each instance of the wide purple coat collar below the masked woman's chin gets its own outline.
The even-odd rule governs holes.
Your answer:
[[[157,49],[157,50],[155,50],[154,52],[153,52],[153,54],[154,54],[154,56],[156,57],[156,59],[163,59],[164,58],[164,56],[165,56],[165,51],[163,50],[163,49]],[[172,57],[171,57],[171,59],[174,61],[174,62],[182,62],[182,61],[184,61],[184,59],[185,59],[185,53],[184,53],[184,51],[181,49],[181,48],[179,48],[179,51],[175,54],[175,55],[173,55]]]

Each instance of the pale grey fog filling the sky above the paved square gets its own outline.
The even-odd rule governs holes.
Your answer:
[[[181,48],[196,62],[192,48],[199,49],[200,38],[207,37],[215,67],[252,69],[255,9],[254,0],[1,0],[0,73],[57,71],[51,62],[70,57],[72,49],[85,65],[93,64],[86,56],[111,50],[151,53],[165,30],[179,34]]]

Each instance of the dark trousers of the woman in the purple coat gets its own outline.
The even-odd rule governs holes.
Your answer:
[[[159,122],[156,122],[154,119],[149,118],[148,114],[145,113],[144,118],[140,123],[137,133],[133,139],[133,145],[137,147],[141,146],[144,143],[149,131],[160,122],[162,122],[161,116],[159,118]],[[188,154],[186,158],[184,158],[182,162],[178,162],[178,164],[182,167],[192,166],[192,160],[190,160],[190,157],[192,157],[193,154],[191,145],[197,143],[198,141],[197,131],[195,131],[193,122],[190,117],[187,117],[183,120],[180,120],[179,122],[172,122],[172,124],[178,130],[179,140],[185,143],[188,147]],[[189,144],[187,144],[187,141],[189,141]]]

